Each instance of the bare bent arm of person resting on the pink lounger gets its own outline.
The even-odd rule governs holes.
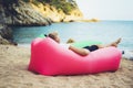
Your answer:
[[[74,46],[69,46],[69,50],[73,51],[74,53],[79,54],[79,55],[82,55],[82,56],[86,56],[90,51],[85,50],[85,48],[78,48],[78,47],[74,47]]]

